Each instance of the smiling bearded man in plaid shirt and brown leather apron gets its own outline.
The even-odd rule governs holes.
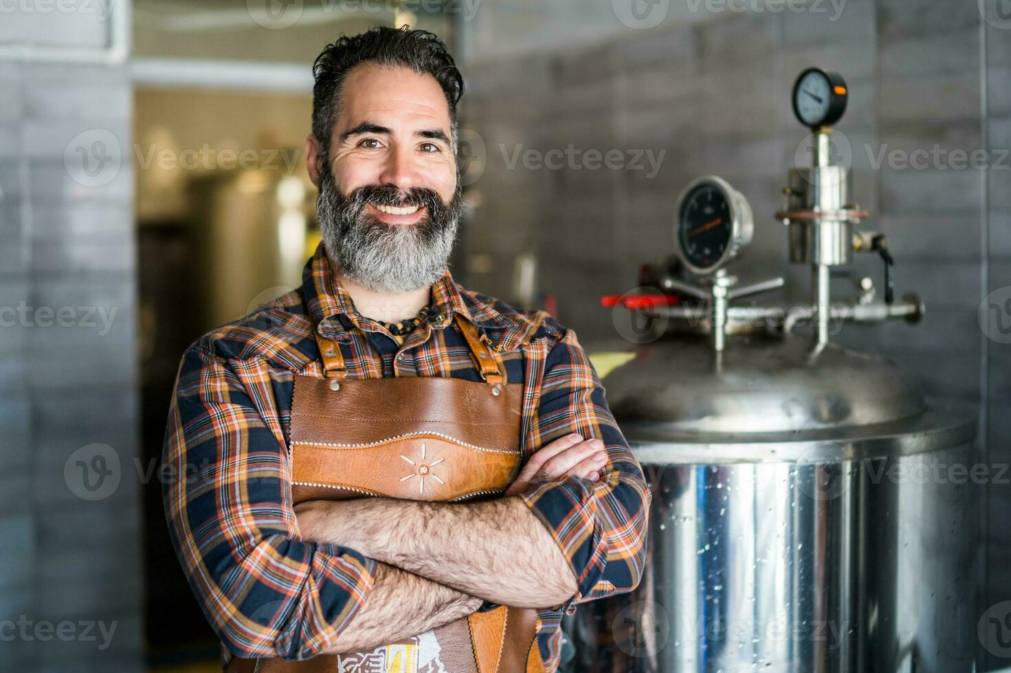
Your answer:
[[[513,627],[478,617],[536,608],[513,670],[553,671],[562,613],[639,582],[642,470],[575,333],[453,281],[463,81],[442,42],[342,36],[313,72],[324,244],[298,290],[183,356],[164,452],[180,562],[226,667],[452,672],[440,639],[463,623],[467,670],[504,673],[476,643]],[[392,497],[333,499],[359,494]]]

